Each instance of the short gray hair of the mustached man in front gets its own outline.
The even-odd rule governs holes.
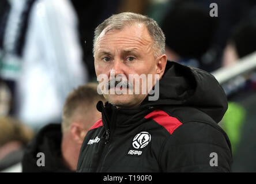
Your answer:
[[[157,22],[142,14],[124,12],[112,15],[97,26],[93,39],[93,55],[95,53],[95,43],[105,28],[108,27],[106,30],[104,30],[104,32],[107,33],[114,29],[121,30],[125,25],[133,25],[134,22],[145,24],[146,28],[148,28],[148,32],[153,40],[153,52],[155,57],[159,56],[160,52],[161,54],[164,54],[165,36],[163,30],[161,30],[159,25],[157,25]]]

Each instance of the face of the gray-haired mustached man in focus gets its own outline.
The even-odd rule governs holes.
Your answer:
[[[129,74],[137,74],[137,76],[144,74],[147,81],[148,74],[153,74],[152,85],[155,85],[154,74],[161,74],[163,68],[159,68],[160,57],[154,56],[152,46],[152,38],[144,24],[134,23],[121,30],[110,30],[106,34],[103,30],[95,45],[96,75],[105,74],[109,80],[114,73],[115,76],[125,76],[129,82]],[[164,58],[166,60],[166,56]],[[148,90],[146,94],[142,93],[142,87],[145,86],[142,85],[141,80],[140,94],[134,94],[136,86],[134,82],[132,85],[133,93],[129,93],[127,89],[127,94],[110,94],[108,90],[108,94],[104,94],[104,97],[116,106],[126,108],[138,106],[145,99]],[[121,89],[115,87],[115,91],[118,90]]]

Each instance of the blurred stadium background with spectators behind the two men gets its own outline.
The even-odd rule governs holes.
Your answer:
[[[253,0],[1,0],[0,171],[20,171],[10,168],[40,128],[61,122],[67,94],[96,81],[93,30],[124,11],[158,22],[168,59],[212,72],[228,97],[219,124],[231,140],[232,171],[256,172]]]

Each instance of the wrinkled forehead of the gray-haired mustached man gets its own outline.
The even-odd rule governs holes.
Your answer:
[[[142,23],[125,25],[121,30],[113,29],[106,33],[105,28],[96,41],[95,52],[111,47],[143,49],[152,46],[152,38],[146,26]]]

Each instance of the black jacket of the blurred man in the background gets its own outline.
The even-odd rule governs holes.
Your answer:
[[[43,127],[25,148],[22,159],[22,172],[70,172],[63,164],[61,154],[61,124],[49,124]],[[37,160],[44,154],[44,166],[37,166]],[[42,162],[40,162],[42,163]]]

